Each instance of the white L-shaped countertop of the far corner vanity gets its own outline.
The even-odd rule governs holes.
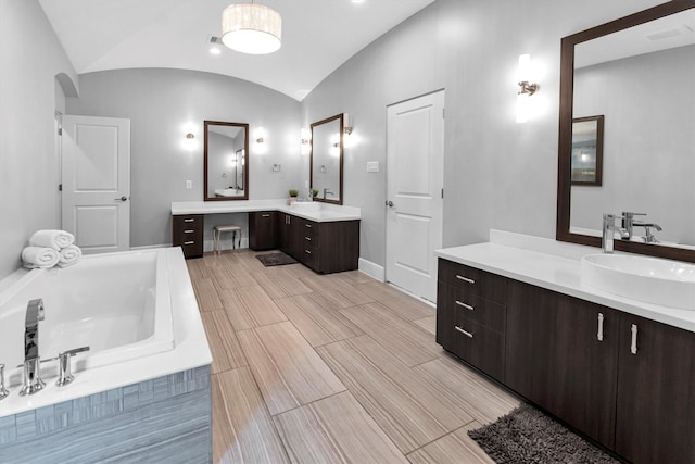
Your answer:
[[[178,201],[172,203],[172,215],[252,213],[258,211],[280,211],[317,223],[333,221],[355,221],[362,216],[359,208],[320,203],[319,211],[300,211],[287,204],[287,200],[240,200],[240,201]]]

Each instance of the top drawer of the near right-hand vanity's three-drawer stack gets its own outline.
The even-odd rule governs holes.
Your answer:
[[[438,279],[445,284],[467,289],[471,294],[505,304],[507,298],[507,278],[485,271],[439,260]]]

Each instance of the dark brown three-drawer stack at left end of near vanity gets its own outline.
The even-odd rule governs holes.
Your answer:
[[[439,260],[437,342],[504,380],[507,279]]]

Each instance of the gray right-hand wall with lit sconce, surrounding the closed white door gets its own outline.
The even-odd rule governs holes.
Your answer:
[[[444,88],[444,246],[490,228],[555,237],[560,38],[661,0],[438,0],[343,64],[303,102],[303,125],[346,112],[345,204],[362,208],[361,254],[386,263],[387,105]],[[540,65],[539,114],[516,124],[518,57]],[[379,173],[366,173],[379,161]]]

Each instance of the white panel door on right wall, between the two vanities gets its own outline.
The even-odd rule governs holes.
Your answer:
[[[444,91],[388,108],[387,280],[437,299],[442,247]]]

